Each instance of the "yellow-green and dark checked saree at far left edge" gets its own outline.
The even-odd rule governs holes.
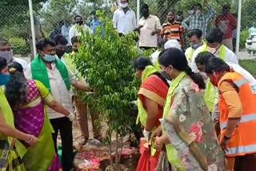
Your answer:
[[[0,87],[0,109],[8,125],[14,128],[14,115],[8,101]],[[16,142],[15,142],[16,141]],[[13,137],[7,137],[0,133],[0,170],[25,171],[22,156],[26,148]]]

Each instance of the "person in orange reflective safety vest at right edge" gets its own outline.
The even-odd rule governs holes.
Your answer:
[[[220,144],[228,171],[256,170],[256,82],[250,83],[220,58],[205,64],[210,82],[218,87]]]

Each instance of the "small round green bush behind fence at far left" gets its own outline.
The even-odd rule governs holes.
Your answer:
[[[10,45],[14,50],[14,54],[28,54],[30,53],[30,46],[26,44],[26,41],[23,38],[10,38]]]

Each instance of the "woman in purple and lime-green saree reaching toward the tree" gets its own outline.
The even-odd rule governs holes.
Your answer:
[[[70,121],[74,114],[64,109],[50,95],[41,82],[26,80],[20,64],[13,62],[9,66],[10,81],[6,84],[6,98],[14,111],[14,124],[17,129],[38,137],[38,144],[27,147],[22,158],[26,170],[58,171],[62,170],[54,150],[53,133],[46,114],[46,105],[66,115]]]

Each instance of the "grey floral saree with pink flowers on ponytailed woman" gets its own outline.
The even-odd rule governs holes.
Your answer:
[[[185,75],[171,96],[170,109],[161,123],[184,169],[226,170],[203,91]]]

